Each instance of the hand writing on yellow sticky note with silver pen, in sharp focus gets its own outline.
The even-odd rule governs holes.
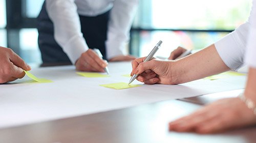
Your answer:
[[[145,57],[139,58],[132,62],[131,76],[139,74],[136,79],[145,84],[176,84],[178,82],[178,78],[173,77],[174,62],[153,59],[143,63],[145,59]]]

